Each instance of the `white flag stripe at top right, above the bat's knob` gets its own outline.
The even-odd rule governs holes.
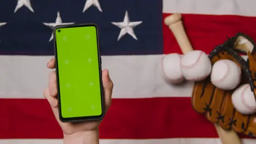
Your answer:
[[[255,0],[163,0],[163,13],[256,16]]]

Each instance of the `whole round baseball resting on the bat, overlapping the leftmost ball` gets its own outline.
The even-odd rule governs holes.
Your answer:
[[[201,81],[210,75],[212,64],[205,52],[194,50],[186,53],[182,57],[181,70],[185,79]]]

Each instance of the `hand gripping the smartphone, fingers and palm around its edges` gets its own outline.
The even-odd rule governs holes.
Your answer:
[[[52,58],[48,63],[47,67],[50,69],[55,68],[55,58]],[[111,104],[113,82],[109,77],[109,72],[107,69],[102,71],[102,81],[104,88],[104,97],[105,97],[105,112],[109,109]],[[59,107],[57,100],[57,80],[56,80],[56,71],[53,70],[49,74],[49,84],[48,88],[44,90],[44,97],[48,100],[51,109],[53,110],[54,116],[57,122],[60,124],[60,127],[63,130],[64,139],[65,137],[79,137],[80,135],[87,134],[96,134],[98,135],[98,126],[101,121],[94,122],[79,122],[79,123],[63,123],[59,119]]]

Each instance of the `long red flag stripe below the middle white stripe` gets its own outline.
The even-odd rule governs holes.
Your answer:
[[[0,99],[1,139],[62,138],[44,99]],[[190,98],[113,99],[100,126],[101,139],[218,137]]]

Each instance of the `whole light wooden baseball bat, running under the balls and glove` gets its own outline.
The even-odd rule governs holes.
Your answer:
[[[167,25],[174,37],[176,38],[179,47],[181,47],[181,50],[183,54],[188,53],[190,51],[193,51],[193,47],[190,44],[190,41],[187,37],[187,34],[185,33],[183,23],[182,23],[182,15],[178,13],[174,13],[170,16],[167,16],[165,18],[165,25]],[[220,127],[218,124],[214,123],[214,127],[216,128],[216,131],[219,135],[220,141],[222,141],[223,144],[241,144],[240,137],[236,134],[234,130],[224,130],[222,127]]]

